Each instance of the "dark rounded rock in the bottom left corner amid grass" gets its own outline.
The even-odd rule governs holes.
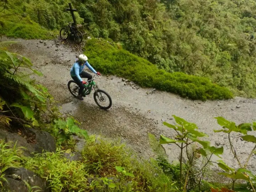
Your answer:
[[[29,187],[34,187],[33,191],[51,191],[49,188],[47,188],[46,180],[35,174],[33,171],[30,171],[23,167],[10,167],[4,172],[4,174],[7,180],[7,182],[4,183],[5,191],[9,190],[11,192],[28,192],[29,189],[27,184],[29,185]]]

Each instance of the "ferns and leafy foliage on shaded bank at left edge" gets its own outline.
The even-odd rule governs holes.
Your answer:
[[[32,69],[29,59],[2,47],[13,43],[0,43],[0,97],[5,102],[2,108],[12,120],[23,119],[28,126],[39,126],[39,114],[46,111],[47,97],[36,89],[30,75],[42,74]]]

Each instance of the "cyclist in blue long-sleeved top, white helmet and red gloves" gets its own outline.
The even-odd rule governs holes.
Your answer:
[[[79,55],[78,59],[70,69],[70,75],[71,78],[76,82],[76,84],[80,87],[77,98],[80,100],[84,100],[82,98],[82,92],[84,90],[84,84],[87,84],[86,81],[83,81],[81,78],[87,78],[88,80],[92,79],[92,75],[89,73],[86,73],[84,70],[85,66],[87,66],[93,73],[97,75],[101,75],[100,72],[97,72],[92,68],[92,66],[88,63],[88,58],[86,55]]]

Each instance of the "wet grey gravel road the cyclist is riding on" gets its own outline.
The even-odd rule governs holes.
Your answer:
[[[224,146],[223,160],[230,166],[236,161],[231,154],[227,135],[214,133],[220,129],[214,117],[222,116],[237,124],[256,121],[256,100],[236,97],[225,101],[191,101],[164,91],[142,88],[115,76],[100,76],[96,83],[107,91],[112,98],[110,110],[101,110],[93,99],[93,94],[77,100],[68,91],[70,68],[76,56],[85,51],[83,44],[57,40],[24,40],[11,46],[11,50],[31,59],[34,68],[43,73],[43,77],[34,77],[46,86],[55,100],[59,101],[62,112],[70,114],[82,122],[82,128],[91,134],[102,134],[107,138],[121,138],[140,156],[153,156],[148,142],[148,133],[159,138],[160,134],[173,137],[174,133],[162,125],[162,121],[174,124],[172,115],[179,116],[197,124],[200,131],[209,135],[212,145]],[[90,58],[89,58],[90,63]],[[94,66],[93,63],[90,63]],[[97,71],[97,69],[95,69]],[[253,148],[251,143],[232,135],[235,149],[242,162]],[[178,150],[174,145],[164,145],[169,159],[177,160]],[[217,159],[217,158],[214,158]],[[249,168],[256,171],[256,155],[249,161]]]

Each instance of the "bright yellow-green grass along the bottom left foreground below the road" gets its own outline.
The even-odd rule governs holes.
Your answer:
[[[58,149],[56,153],[36,154],[33,158],[17,153],[0,140],[0,162],[2,169],[19,166],[30,169],[45,178],[52,191],[172,191],[174,182],[149,162],[139,162],[133,151],[124,144],[97,140],[87,142],[80,161],[68,161],[63,153],[70,150]],[[68,152],[69,151],[69,152]],[[1,167],[0,166],[0,167]],[[133,174],[118,172],[116,166]],[[6,168],[7,167],[7,168]],[[0,181],[4,182],[4,170]],[[92,181],[90,181],[92,180]],[[0,182],[1,184],[1,182]]]

